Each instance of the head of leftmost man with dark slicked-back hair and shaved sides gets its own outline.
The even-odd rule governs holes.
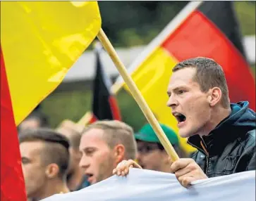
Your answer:
[[[28,199],[68,193],[68,139],[51,129],[28,129],[19,135],[19,141]]]

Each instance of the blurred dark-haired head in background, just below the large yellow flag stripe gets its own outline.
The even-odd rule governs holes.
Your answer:
[[[18,131],[24,131],[25,129],[37,129],[48,128],[49,122],[47,116],[37,110],[33,111],[23,120],[18,126]]]

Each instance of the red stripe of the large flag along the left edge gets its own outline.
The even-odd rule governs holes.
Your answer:
[[[25,201],[18,132],[13,117],[3,53],[1,60],[1,201]]]

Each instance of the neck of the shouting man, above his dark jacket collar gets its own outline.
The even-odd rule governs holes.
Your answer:
[[[212,116],[205,125],[205,128],[200,131],[200,136],[207,136],[217,125],[231,114],[231,108],[218,108],[212,112]]]

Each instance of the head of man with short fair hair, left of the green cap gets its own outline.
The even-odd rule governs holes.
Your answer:
[[[137,145],[133,129],[116,120],[99,121],[85,128],[80,141],[80,167],[91,184],[112,176],[112,170],[122,160],[133,159]]]

